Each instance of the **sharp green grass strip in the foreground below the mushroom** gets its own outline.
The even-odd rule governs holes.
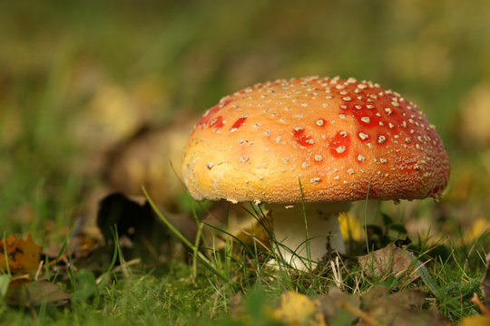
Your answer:
[[[459,321],[477,313],[470,298],[479,291],[485,258],[483,251],[476,248],[488,245],[488,238],[480,237],[471,247],[450,243],[444,246],[444,254],[433,253],[436,246],[412,247],[411,251],[419,259],[431,260],[424,267],[431,286],[427,286],[429,283],[424,277],[415,283],[399,283],[390,273],[367,277],[348,258],[321,266],[319,270],[298,273],[280,256],[260,250],[257,243],[252,244],[228,240],[220,251],[191,250],[191,257],[198,264],[178,258],[152,269],[124,266],[122,251],[116,250],[114,255],[119,255],[118,260],[122,262],[116,268],[107,264],[101,273],[83,269],[83,264],[78,263],[82,269],[70,268],[69,282],[63,280],[64,273],[51,279],[72,292],[70,305],[55,307],[54,303],[48,303],[20,309],[4,305],[0,313],[5,321],[15,323],[34,320],[54,324],[168,322],[187,325],[213,324],[218,319],[223,325],[234,325],[241,323],[230,319],[230,311],[238,309],[236,299],[246,293],[245,303],[241,303],[244,305],[242,313],[255,319],[247,324],[260,324],[258,321],[274,324],[264,314],[264,307],[277,302],[283,292],[319,295],[336,285],[347,293],[363,293],[383,284],[392,291],[421,289],[428,293],[428,302],[436,301],[446,317]],[[194,248],[189,242],[186,245]],[[270,267],[271,257],[278,262],[279,269]]]

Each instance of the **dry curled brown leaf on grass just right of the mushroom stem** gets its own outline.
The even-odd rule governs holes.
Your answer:
[[[393,275],[397,279],[407,279],[408,283],[420,277],[415,268],[417,261],[412,260],[407,251],[398,248],[395,244],[387,245],[370,254],[358,256],[358,263],[364,273],[370,277]]]

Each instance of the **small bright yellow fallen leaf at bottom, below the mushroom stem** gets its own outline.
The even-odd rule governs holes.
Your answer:
[[[287,325],[327,326],[323,313],[319,311],[320,302],[299,292],[286,292],[281,295],[279,307],[272,315]]]

